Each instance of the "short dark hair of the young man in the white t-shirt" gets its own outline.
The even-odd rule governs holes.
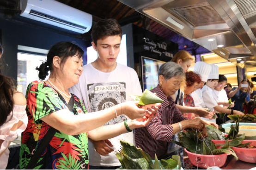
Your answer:
[[[108,36],[119,35],[122,39],[122,27],[115,19],[103,19],[94,25],[91,38],[97,46],[97,41]]]

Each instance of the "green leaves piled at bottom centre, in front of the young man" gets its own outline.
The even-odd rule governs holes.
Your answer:
[[[158,158],[155,155],[155,164],[153,164],[150,156],[143,152],[140,148],[134,145],[121,141],[122,151],[116,153],[116,157],[122,164],[123,169],[127,170],[160,170]],[[180,156],[173,156],[172,159],[160,160],[160,163],[165,169],[172,170],[181,169]]]

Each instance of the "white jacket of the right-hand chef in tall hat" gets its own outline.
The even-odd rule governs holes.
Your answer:
[[[202,88],[202,93],[203,93],[203,100],[206,105],[206,108],[209,108],[211,109],[211,111],[213,111],[214,107],[218,106],[217,101],[213,97],[213,89],[205,85]],[[202,118],[202,119],[216,123],[216,119],[213,119],[213,120],[210,120],[208,118]]]

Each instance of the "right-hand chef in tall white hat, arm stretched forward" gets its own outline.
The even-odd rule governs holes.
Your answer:
[[[211,109],[211,111],[215,111],[215,113],[226,113],[226,114],[238,114],[244,115],[244,113],[236,110],[229,110],[226,108],[222,108],[218,105],[218,101],[213,97],[213,89],[218,85],[219,82],[219,67],[211,64],[212,70],[206,82],[206,85],[202,88],[203,93],[203,101],[206,105],[206,108]],[[208,121],[212,121],[216,123],[216,120],[210,120],[208,118],[202,118]]]

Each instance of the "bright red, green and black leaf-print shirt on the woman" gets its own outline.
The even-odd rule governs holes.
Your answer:
[[[87,113],[80,99],[74,96],[74,115]],[[19,166],[25,169],[50,126],[41,119],[59,110],[68,109],[65,99],[45,82],[28,86],[27,116],[29,123],[22,134]],[[88,135],[70,136],[57,131],[34,170],[85,170],[89,168]]]

